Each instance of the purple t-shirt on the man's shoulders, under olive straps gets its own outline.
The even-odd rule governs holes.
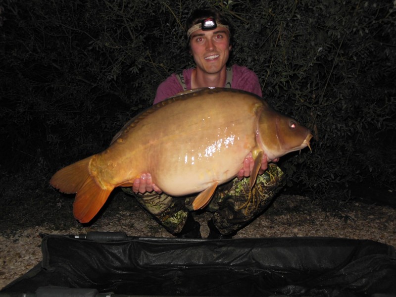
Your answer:
[[[192,72],[193,68],[183,70],[183,76],[188,90],[191,89]],[[232,65],[231,88],[254,93],[261,98],[263,97],[257,75],[245,66]],[[183,87],[180,85],[176,74],[173,73],[158,86],[153,104],[175,96],[180,92],[183,92]]]

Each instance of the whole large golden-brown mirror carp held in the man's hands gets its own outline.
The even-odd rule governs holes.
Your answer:
[[[143,172],[171,196],[199,193],[204,207],[217,185],[234,178],[252,151],[251,185],[269,159],[309,146],[311,132],[261,98],[232,89],[198,89],[151,106],[131,119],[105,151],[56,172],[50,180],[76,193],[74,215],[89,222],[115,187]],[[170,170],[171,169],[171,170]]]

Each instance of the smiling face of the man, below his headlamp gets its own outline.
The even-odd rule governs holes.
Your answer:
[[[190,49],[197,68],[217,73],[225,67],[230,55],[230,32],[222,27],[210,31],[199,29],[191,35]]]

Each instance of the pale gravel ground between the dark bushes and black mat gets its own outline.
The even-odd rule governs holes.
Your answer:
[[[351,202],[350,210],[335,216],[321,210],[309,198],[281,195],[234,238],[247,237],[339,237],[368,239],[396,247],[396,209],[390,206]],[[208,235],[210,213],[195,214],[201,234]],[[11,227],[12,228],[12,227]],[[56,230],[53,226],[8,230],[0,236],[0,288],[26,273],[42,259],[40,233],[82,234],[88,231],[122,231],[128,236],[172,237],[136,205],[129,211],[104,211],[89,227]]]

